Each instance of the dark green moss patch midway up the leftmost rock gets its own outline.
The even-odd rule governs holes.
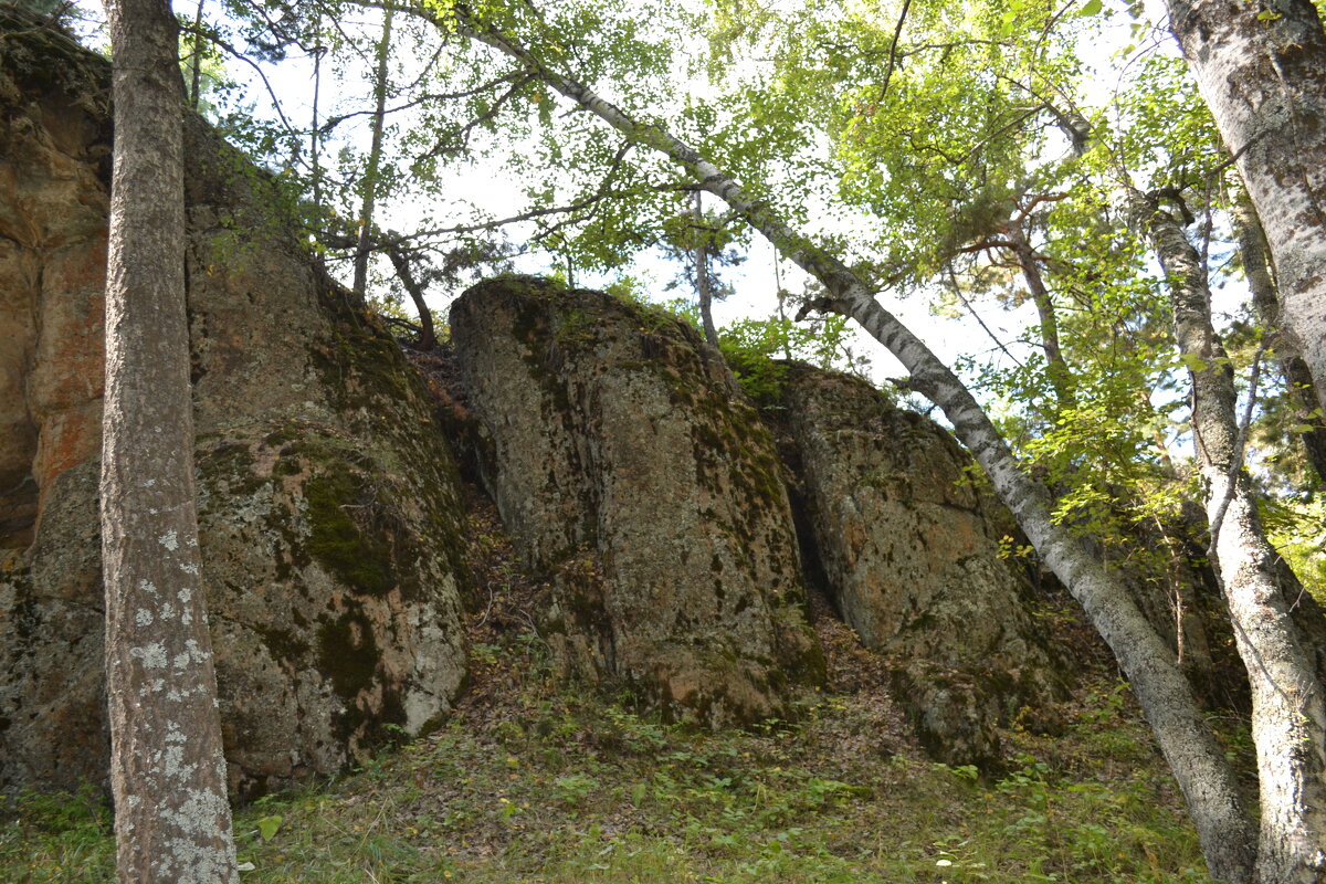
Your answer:
[[[377,501],[345,473],[322,474],[304,486],[310,534],[309,554],[343,583],[366,595],[395,584],[391,555],[381,531],[363,531],[347,508],[373,509]]]

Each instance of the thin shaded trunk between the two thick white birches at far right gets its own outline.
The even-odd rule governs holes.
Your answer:
[[[1285,378],[1286,395],[1293,403],[1294,416],[1298,423],[1311,427],[1302,433],[1303,452],[1307,463],[1311,464],[1317,474],[1318,485],[1326,481],[1326,419],[1321,416],[1317,406],[1317,391],[1313,384],[1313,374],[1307,370],[1307,363],[1296,355],[1293,349],[1282,349],[1280,318],[1280,293],[1276,280],[1272,276],[1266,256],[1270,253],[1266,245],[1266,235],[1257,220],[1257,209],[1253,208],[1248,195],[1242,191],[1235,200],[1231,211],[1235,235],[1238,239],[1238,254],[1242,258],[1244,276],[1248,278],[1248,289],[1252,292],[1252,304],[1257,310],[1257,318],[1270,335],[1272,349],[1276,351],[1276,362]]]

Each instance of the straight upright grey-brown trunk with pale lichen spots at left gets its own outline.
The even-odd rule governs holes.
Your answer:
[[[178,25],[160,0],[106,5],[115,147],[101,527],[117,867],[125,883],[233,884],[194,496]]]

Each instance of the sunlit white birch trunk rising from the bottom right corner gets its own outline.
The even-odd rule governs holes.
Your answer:
[[[1290,616],[1277,554],[1242,469],[1233,372],[1211,322],[1207,270],[1179,223],[1154,201],[1131,191],[1128,212],[1164,269],[1175,339],[1192,376],[1193,447],[1212,565],[1252,687],[1261,787],[1257,877],[1262,884],[1319,881],[1326,875],[1326,691]]]

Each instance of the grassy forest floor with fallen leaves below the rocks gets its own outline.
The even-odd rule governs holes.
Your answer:
[[[473,497],[473,496],[472,496]],[[1002,733],[1001,773],[927,761],[855,637],[815,602],[831,680],[796,722],[703,733],[552,672],[491,505],[471,500],[472,684],[439,732],[237,811],[245,883],[1205,881],[1164,761],[1099,641],[1059,736]],[[1246,729],[1231,740],[1249,763]],[[93,791],[0,804],[0,881],[110,881]]]

